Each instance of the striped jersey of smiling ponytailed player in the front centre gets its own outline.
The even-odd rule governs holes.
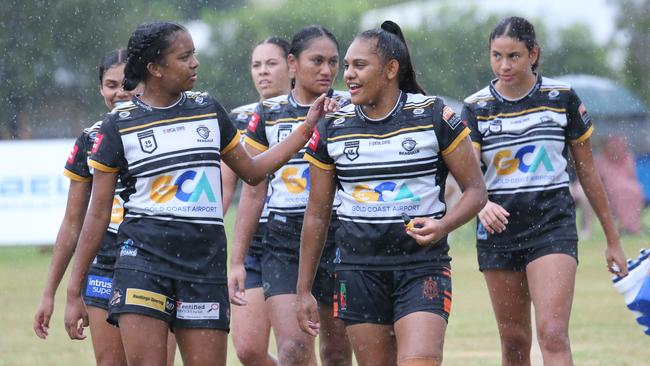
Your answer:
[[[433,96],[401,93],[383,119],[348,105],[319,122],[305,159],[335,170],[337,268],[415,268],[449,262],[446,238],[420,246],[405,232],[402,213],[445,215],[443,156],[470,131],[454,111]]]

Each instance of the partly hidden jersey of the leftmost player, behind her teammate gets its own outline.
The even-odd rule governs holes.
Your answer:
[[[94,123],[92,126],[85,128],[81,135],[77,137],[75,144],[68,156],[65,163],[63,174],[71,180],[78,182],[87,182],[90,184],[93,177],[93,168],[88,166],[88,158],[90,157],[95,137],[99,132],[102,121]],[[107,231],[112,234],[117,234],[117,230],[124,219],[124,201],[120,197],[120,193],[124,190],[120,180],[118,179],[115,187],[115,195],[113,196],[113,207],[111,209],[111,221],[108,225]],[[115,250],[117,243],[108,245],[109,241],[105,241],[102,248],[97,253],[95,262],[97,265],[102,263],[115,262]]]

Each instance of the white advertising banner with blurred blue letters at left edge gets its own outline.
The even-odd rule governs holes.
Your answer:
[[[54,244],[73,139],[0,141],[0,245]]]

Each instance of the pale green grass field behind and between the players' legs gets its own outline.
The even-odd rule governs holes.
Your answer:
[[[231,210],[232,212],[232,210]],[[232,227],[232,219],[227,220]],[[646,212],[644,226],[650,228]],[[628,257],[650,247],[642,237],[623,237]],[[496,323],[483,277],[477,270],[473,233],[469,225],[453,234],[454,303],[445,342],[445,365],[499,365]],[[604,239],[595,230],[580,243],[580,265],[571,317],[571,341],[576,365],[650,365],[650,337],[611,285],[602,256]],[[65,286],[59,289],[50,337],[43,341],[32,330],[32,318],[51,254],[35,247],[0,247],[0,365],[92,365],[90,340],[70,341],[63,329]],[[67,278],[67,277],[66,277]],[[541,356],[533,345],[535,365]],[[177,355],[176,364],[180,365]],[[238,365],[230,347],[228,364]]]

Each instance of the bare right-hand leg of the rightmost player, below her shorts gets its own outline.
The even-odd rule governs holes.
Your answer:
[[[541,256],[526,267],[537,338],[546,365],[573,364],[569,317],[576,268],[576,259],[563,253]]]

